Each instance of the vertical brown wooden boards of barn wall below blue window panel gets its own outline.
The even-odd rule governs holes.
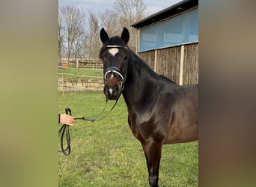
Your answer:
[[[198,83],[198,42],[138,52],[138,56],[180,85]]]

